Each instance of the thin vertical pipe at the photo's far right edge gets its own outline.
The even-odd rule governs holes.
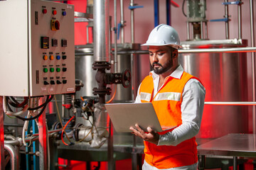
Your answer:
[[[250,30],[251,46],[255,46],[253,0],[250,0]],[[256,101],[255,94],[255,52],[252,52],[252,101]],[[256,108],[252,106],[252,132],[256,133]]]

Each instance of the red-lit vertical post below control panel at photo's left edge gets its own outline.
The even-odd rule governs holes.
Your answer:
[[[3,110],[3,96],[0,96],[0,169],[4,170],[4,110]]]

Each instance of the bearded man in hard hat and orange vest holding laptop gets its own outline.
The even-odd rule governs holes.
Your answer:
[[[171,26],[154,28],[144,45],[149,47],[153,71],[139,86],[136,103],[151,102],[162,127],[176,127],[159,135],[130,128],[144,140],[142,169],[197,169],[195,135],[203,114],[206,90],[201,82],[178,64],[178,33]]]

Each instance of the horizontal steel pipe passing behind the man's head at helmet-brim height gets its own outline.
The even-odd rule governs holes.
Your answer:
[[[233,48],[213,48],[213,49],[190,49],[190,50],[178,50],[178,53],[205,53],[205,52],[256,52],[256,47],[233,47]],[[114,52],[112,52],[114,54]],[[117,55],[144,55],[149,54],[148,50],[128,50],[119,51]],[[75,52],[75,56],[93,55],[93,52]]]

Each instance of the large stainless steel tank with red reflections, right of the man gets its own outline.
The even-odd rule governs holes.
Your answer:
[[[246,47],[246,40],[182,42],[183,49]],[[205,101],[248,101],[247,53],[180,53],[183,69],[198,77],[206,88]],[[247,106],[205,105],[198,137],[215,138],[248,132]]]

